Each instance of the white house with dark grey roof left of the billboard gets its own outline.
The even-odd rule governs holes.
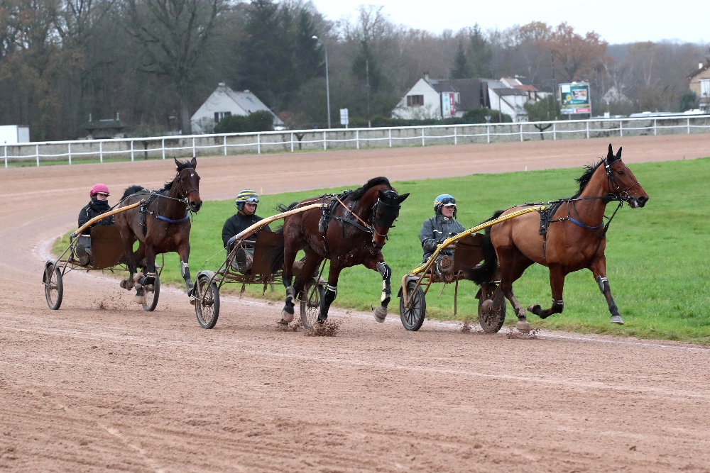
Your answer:
[[[479,79],[419,79],[392,111],[392,118],[424,120],[463,116],[481,108],[484,96]]]

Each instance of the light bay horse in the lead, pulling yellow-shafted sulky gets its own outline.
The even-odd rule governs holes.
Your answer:
[[[496,258],[500,268],[501,284],[493,299],[484,301],[484,311],[497,310],[505,304],[506,296],[518,316],[516,327],[520,332],[529,333],[530,323],[525,309],[520,306],[513,294],[513,282],[517,281],[533,263],[543,265],[550,271],[552,306],[542,309],[540,304],[528,306],[528,311],[540,318],[547,318],[553,313],[562,313],[564,302],[562,288],[564,277],[571,272],[587,268],[594,275],[599,290],[606,298],[611,323],[623,325],[611,295],[611,288],[606,278],[606,231],[611,219],[624,202],[631,208],[645,206],[648,194],[628,167],[621,161],[621,148],[613,154],[611,144],[608,154],[596,165],[586,166],[586,171],[577,179],[579,191],[569,199],[550,202],[540,213],[530,212],[510,220],[496,223],[486,232],[484,251],[493,247],[493,261],[481,265],[481,272],[495,269]],[[611,201],[618,201],[618,207],[604,225],[604,211]],[[529,208],[531,204],[515,206],[506,211],[497,211],[493,218]],[[471,271],[467,276],[475,279]]]

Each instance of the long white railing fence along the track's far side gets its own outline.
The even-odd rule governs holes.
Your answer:
[[[260,155],[401,146],[462,145],[512,141],[613,138],[616,136],[710,133],[710,115],[658,118],[433,125],[393,128],[333,128],[262,133],[48,141],[0,145],[5,167],[76,164],[214,155]]]

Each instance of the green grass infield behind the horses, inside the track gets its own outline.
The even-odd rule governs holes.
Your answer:
[[[704,204],[710,200],[710,158],[688,161],[632,165],[635,176],[650,196],[644,208],[618,211],[611,223],[606,246],[606,270],[611,290],[626,325],[609,323],[606,301],[591,272],[569,274],[564,286],[564,313],[540,320],[530,314],[535,328],[572,330],[581,333],[684,340],[710,344],[710,236]],[[422,250],[417,235],[422,221],[432,215],[435,196],[453,194],[458,204],[458,220],[466,228],[489,218],[496,209],[523,202],[539,202],[572,196],[577,191],[574,179],[584,169],[553,169],[506,174],[474,174],[451,179],[393,182],[401,193],[410,192],[403,203],[395,228],[383,248],[393,270],[393,293],[400,278],[417,267]],[[350,189],[362,185],[354,182]],[[270,216],[277,204],[318,196],[344,189],[317,189],[291,194],[261,196],[258,213]],[[611,216],[616,204],[610,204]],[[202,206],[192,226],[190,267],[216,269],[224,261],[222,224],[234,213],[234,201],[210,201]],[[272,226],[273,228],[273,226]],[[210,259],[212,258],[212,259]],[[203,265],[204,262],[204,265]],[[327,271],[327,270],[326,270]],[[327,279],[327,277],[326,277]],[[182,283],[178,257],[166,255],[162,282]],[[226,288],[226,286],[225,286]],[[444,289],[439,296],[439,291]],[[458,315],[476,319],[476,286],[461,282]],[[231,286],[239,291],[240,286]],[[381,277],[364,267],[342,272],[334,306],[369,311],[378,304]],[[248,294],[261,296],[261,286],[248,286]],[[533,265],[515,284],[520,304],[550,306],[547,268]],[[427,294],[427,317],[453,319],[454,286],[436,284]],[[266,297],[283,300],[283,287],[268,289]],[[399,299],[390,303],[391,317],[398,316]],[[506,323],[515,317],[508,306]]]

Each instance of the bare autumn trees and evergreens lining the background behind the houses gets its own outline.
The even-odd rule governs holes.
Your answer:
[[[351,126],[393,124],[392,109],[424,72],[522,75],[541,91],[586,81],[597,113],[675,111],[693,105],[686,77],[705,53],[697,44],[610,46],[564,23],[474,23],[437,35],[395,25],[373,6],[331,22],[298,0],[4,0],[0,124],[65,140],[86,135],[89,114],[119,113],[131,136],[190,133],[191,114],[225,82],[253,91],[287,126],[322,128],[326,55],[334,126],[339,108],[349,108]]]

